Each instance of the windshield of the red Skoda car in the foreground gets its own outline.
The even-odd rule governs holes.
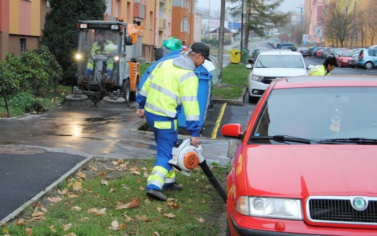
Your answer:
[[[276,89],[252,136],[377,139],[377,87]],[[253,140],[255,142],[266,140]],[[270,141],[268,141],[270,142]]]

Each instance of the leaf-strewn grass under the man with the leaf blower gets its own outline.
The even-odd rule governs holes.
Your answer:
[[[161,202],[145,195],[153,162],[95,161],[0,230],[7,236],[221,235],[226,205],[202,170],[190,177],[176,172],[184,189],[163,191],[169,199]],[[224,186],[229,167],[211,168]]]

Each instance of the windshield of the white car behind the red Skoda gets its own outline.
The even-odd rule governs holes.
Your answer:
[[[255,67],[305,68],[301,55],[260,55]]]

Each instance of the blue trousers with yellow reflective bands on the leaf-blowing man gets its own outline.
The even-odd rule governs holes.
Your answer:
[[[145,112],[148,125],[152,128],[157,144],[156,161],[148,177],[147,189],[161,190],[164,185],[175,181],[174,167],[169,163],[172,149],[177,145],[178,121],[170,117],[158,116]]]

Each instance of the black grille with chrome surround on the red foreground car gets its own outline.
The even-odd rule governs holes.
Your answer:
[[[377,225],[377,199],[368,198],[367,208],[358,211],[354,209],[349,198],[336,198],[310,198],[307,201],[309,220],[324,223]]]

